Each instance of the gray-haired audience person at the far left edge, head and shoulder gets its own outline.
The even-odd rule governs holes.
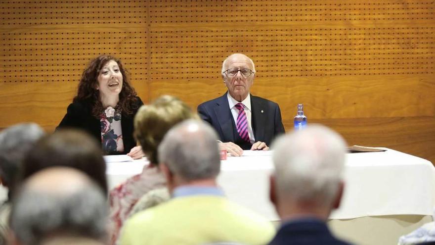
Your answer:
[[[7,244],[10,200],[16,189],[24,156],[42,136],[44,130],[35,123],[16,124],[0,133],[0,181],[8,189],[0,207],[0,245]]]

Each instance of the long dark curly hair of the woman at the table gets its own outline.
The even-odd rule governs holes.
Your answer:
[[[98,75],[100,74],[101,68],[109,62],[110,60],[114,60],[118,63],[119,69],[123,76],[123,86],[121,89],[121,93],[119,93],[119,102],[118,109],[120,112],[131,115],[133,110],[136,108],[132,108],[135,102],[137,101],[136,92],[133,87],[130,86],[129,78],[127,77],[127,70],[124,69],[124,66],[120,59],[108,55],[102,54],[92,61],[90,61],[89,65],[85,69],[82,74],[82,78],[80,79],[79,89],[77,96],[74,97],[74,102],[76,101],[90,101],[92,105],[92,115],[96,118],[99,118],[99,115],[104,111],[103,104],[101,103],[100,93],[97,90],[98,85]]]

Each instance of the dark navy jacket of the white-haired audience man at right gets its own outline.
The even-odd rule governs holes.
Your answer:
[[[338,240],[318,219],[299,219],[284,223],[269,245],[350,245]]]

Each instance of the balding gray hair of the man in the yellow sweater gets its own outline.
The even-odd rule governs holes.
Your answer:
[[[220,171],[217,134],[200,120],[174,126],[159,146],[159,162],[186,181],[215,178]]]

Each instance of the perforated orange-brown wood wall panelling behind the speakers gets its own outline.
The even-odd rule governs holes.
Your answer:
[[[223,59],[256,63],[252,93],[296,104],[349,144],[435,162],[435,2],[431,0],[3,1],[0,127],[52,130],[89,59],[122,58],[140,97],[192,107],[220,96]]]

